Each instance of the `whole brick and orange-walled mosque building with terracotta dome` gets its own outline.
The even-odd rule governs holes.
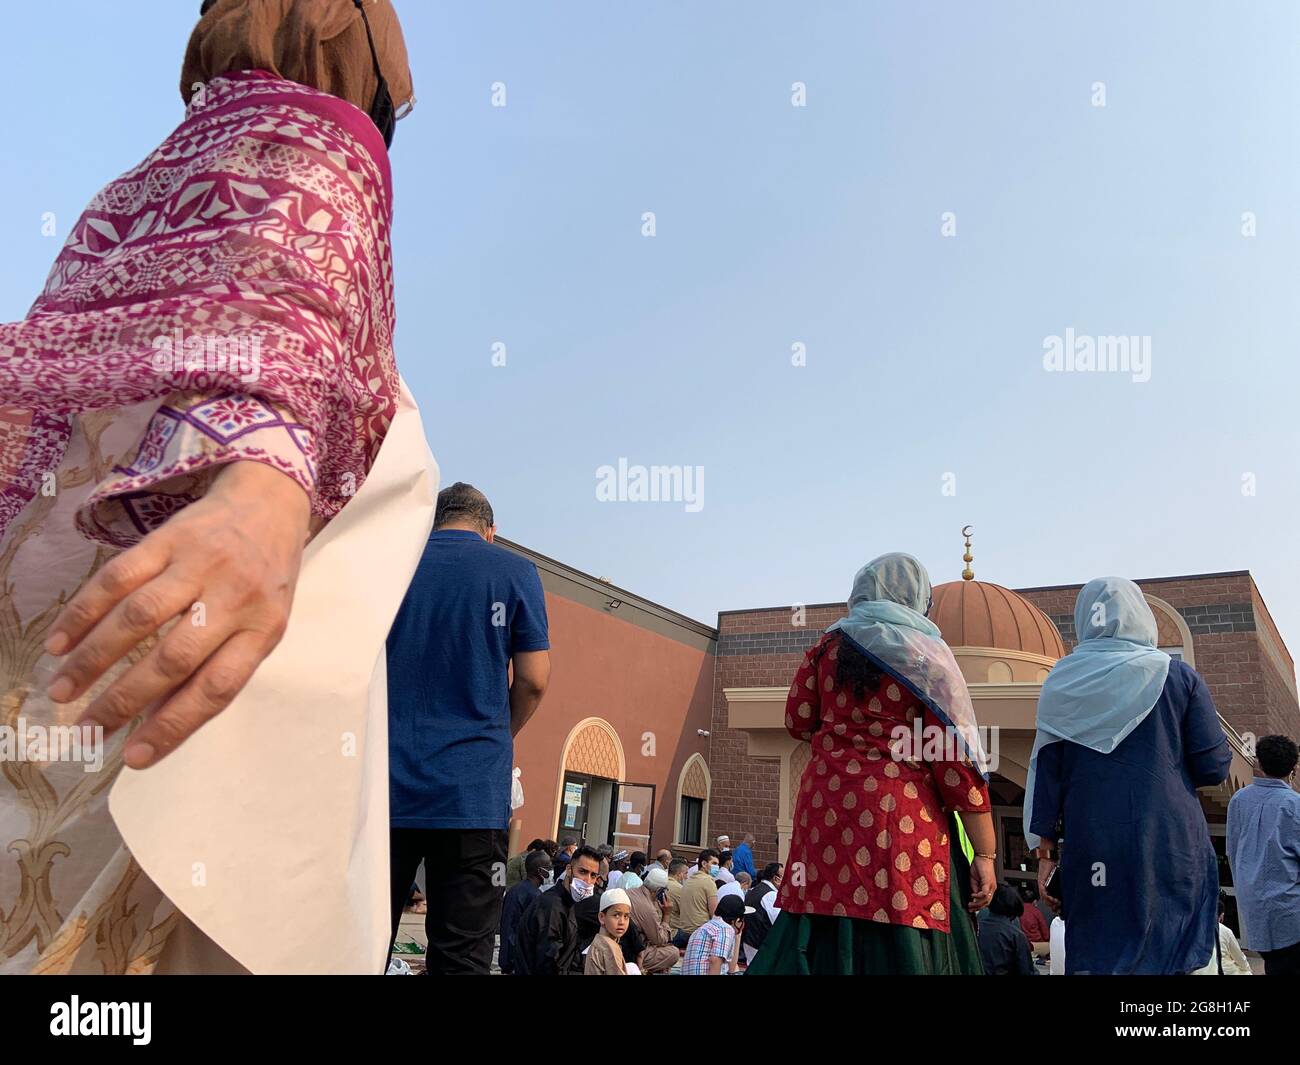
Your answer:
[[[506,546],[538,564],[552,644],[551,689],[516,740],[525,791],[516,839],[573,835],[693,856],[719,834],[753,832],[757,861],[784,860],[810,757],[785,731],[785,697],[803,653],[846,605],[724,610],[710,627]],[[1013,590],[976,580],[968,537],[963,560],[959,580],[935,586],[930,616],[991,731],[998,876],[1034,880],[1022,805],[1035,709],[1074,645],[1082,584]],[[1295,662],[1245,570],[1136,584],[1160,648],[1205,679],[1232,748],[1228,779],[1200,795],[1222,856],[1227,802],[1254,775],[1253,737],[1300,736]],[[1231,893],[1222,858],[1221,876]]]

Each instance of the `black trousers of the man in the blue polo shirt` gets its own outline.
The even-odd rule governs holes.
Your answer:
[[[500,923],[507,844],[503,828],[390,827],[393,938],[389,952],[398,938],[411,882],[422,861],[424,896],[429,905],[424,918],[429,975],[488,975]]]

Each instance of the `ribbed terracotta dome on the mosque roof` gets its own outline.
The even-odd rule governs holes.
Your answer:
[[[937,585],[933,596],[930,620],[950,648],[993,648],[1053,659],[1065,655],[1052,619],[1010,588],[954,580]]]

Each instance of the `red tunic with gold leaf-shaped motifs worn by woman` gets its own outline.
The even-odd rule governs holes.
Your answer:
[[[988,785],[968,758],[894,758],[896,730],[911,733],[916,718],[926,730],[941,726],[888,674],[858,698],[837,677],[844,638],[828,632],[809,650],[785,703],[785,727],[810,741],[812,757],[798,789],[779,906],[946,932],[945,811],[987,813]]]

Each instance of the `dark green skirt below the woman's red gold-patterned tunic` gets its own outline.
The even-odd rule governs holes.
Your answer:
[[[751,977],[982,977],[975,926],[966,912],[970,865],[950,834],[950,932],[857,917],[783,910],[754,961]]]

